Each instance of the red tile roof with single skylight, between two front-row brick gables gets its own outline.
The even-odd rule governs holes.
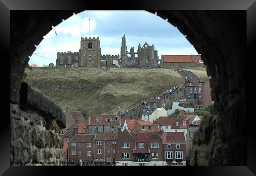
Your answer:
[[[135,147],[134,153],[149,153],[150,152],[149,150],[150,146],[148,146],[149,140],[161,139],[159,134],[157,134],[156,132],[131,132],[130,134],[136,141],[136,147]],[[139,148],[139,143],[144,143],[144,147]]]

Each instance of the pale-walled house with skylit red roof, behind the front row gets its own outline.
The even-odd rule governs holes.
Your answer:
[[[97,132],[117,132],[120,127],[120,118],[117,115],[89,116],[89,134]]]

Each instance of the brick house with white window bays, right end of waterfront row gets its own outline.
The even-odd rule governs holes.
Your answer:
[[[164,132],[163,160],[167,166],[186,166],[186,141],[183,132]]]

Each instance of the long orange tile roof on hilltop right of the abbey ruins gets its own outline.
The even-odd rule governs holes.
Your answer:
[[[163,62],[192,62],[191,55],[162,55]],[[193,55],[194,63],[199,63],[199,60],[202,60],[201,55]]]

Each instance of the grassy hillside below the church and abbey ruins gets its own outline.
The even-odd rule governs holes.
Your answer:
[[[26,82],[58,104],[92,114],[117,114],[181,85],[180,74],[167,69],[29,69]],[[160,90],[158,90],[160,89]]]

